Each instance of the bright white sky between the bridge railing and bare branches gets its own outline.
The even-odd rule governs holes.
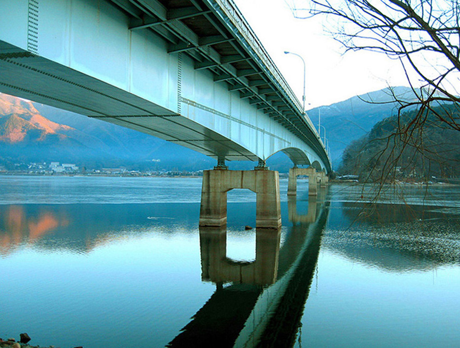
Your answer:
[[[234,0],[299,101],[306,65],[306,110],[391,86],[407,86],[400,63],[375,52],[343,54],[325,19],[296,19],[284,0]]]

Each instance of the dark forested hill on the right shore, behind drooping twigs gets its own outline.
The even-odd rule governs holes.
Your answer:
[[[359,175],[362,181],[459,177],[460,131],[439,117],[458,124],[460,105],[434,108],[423,122],[415,116],[412,111],[378,122],[347,147],[339,172]]]

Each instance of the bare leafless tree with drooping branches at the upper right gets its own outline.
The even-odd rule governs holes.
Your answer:
[[[374,154],[388,169],[381,179],[388,179],[389,169],[407,154],[406,147],[414,155],[444,161],[424,139],[429,122],[460,131],[459,0],[285,1],[297,18],[326,16],[330,34],[345,52],[381,52],[402,64],[413,94],[392,95],[399,103],[398,124],[387,135],[386,146]],[[401,117],[409,110],[410,118]]]

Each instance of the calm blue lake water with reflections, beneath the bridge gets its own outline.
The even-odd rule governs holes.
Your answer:
[[[299,180],[281,231],[201,178],[0,177],[0,337],[56,347],[460,347],[460,188]]]

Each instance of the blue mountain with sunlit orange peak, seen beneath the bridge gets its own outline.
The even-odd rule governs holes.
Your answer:
[[[132,129],[0,94],[0,162],[199,170],[214,160]]]

